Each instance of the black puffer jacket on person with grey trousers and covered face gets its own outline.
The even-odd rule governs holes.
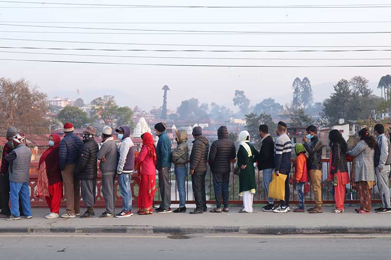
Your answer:
[[[96,159],[98,150],[98,143],[93,138],[83,140],[82,148],[80,148],[79,160],[77,161],[75,169],[75,176],[77,177],[77,179],[96,179],[98,174],[98,166]]]

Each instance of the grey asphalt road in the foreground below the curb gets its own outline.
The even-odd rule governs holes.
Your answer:
[[[390,259],[391,235],[0,234],[0,255],[26,259]]]

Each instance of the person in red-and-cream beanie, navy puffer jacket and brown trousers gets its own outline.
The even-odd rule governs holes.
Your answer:
[[[61,218],[80,216],[80,181],[75,177],[77,159],[83,141],[73,133],[73,124],[64,124],[65,136],[60,142],[59,159],[66,198],[66,213]]]

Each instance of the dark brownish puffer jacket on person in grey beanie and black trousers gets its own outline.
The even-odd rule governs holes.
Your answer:
[[[207,170],[209,141],[204,136],[198,136],[193,141],[193,149],[190,154],[190,169],[195,173],[204,173]]]

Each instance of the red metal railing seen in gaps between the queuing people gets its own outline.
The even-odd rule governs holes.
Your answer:
[[[332,195],[332,188],[333,185],[331,182],[327,181],[328,178],[328,159],[322,159],[323,163],[323,170],[322,170],[322,196],[323,196],[323,202],[325,204],[333,204],[334,203],[334,198]],[[351,166],[351,163],[348,162],[349,165]],[[230,174],[230,196],[229,196],[229,203],[230,204],[241,204],[242,201],[239,198],[239,177],[233,174],[233,169],[235,166],[235,160],[231,161],[231,174]],[[32,165],[33,167],[33,165]],[[294,169],[292,169],[291,175],[290,175],[290,203],[291,204],[297,204],[299,203],[298,198],[298,192],[296,190],[296,184],[293,183],[292,180],[294,180]],[[349,172],[351,175],[351,171]],[[172,190],[172,204],[179,204],[179,195],[177,193],[176,185],[174,183],[174,171],[169,172],[170,174],[170,186]],[[265,191],[262,185],[262,173],[258,172],[256,170],[256,181],[257,181],[257,192],[254,196],[254,203],[255,204],[264,204],[267,202],[267,198],[265,196]],[[38,181],[38,174],[36,169],[34,167],[31,169],[31,174],[30,174],[30,199],[31,199],[31,205],[33,207],[46,207],[46,202],[42,199],[39,199],[35,196],[35,191],[36,191],[36,186],[37,186],[37,181]],[[157,175],[156,175],[157,176]],[[350,180],[351,180],[350,176]],[[189,180],[191,180],[190,174],[188,174],[188,177],[186,179],[186,202],[190,204],[194,204],[194,195],[191,189],[191,184],[189,185]],[[137,204],[137,196],[138,196],[138,185],[137,185],[137,174],[133,174],[133,177],[131,179],[131,187],[132,187],[132,197],[133,201],[132,204],[136,205]],[[206,196],[207,196],[207,203],[208,204],[214,204],[215,203],[215,194],[214,194],[214,189],[213,189],[213,181],[212,181],[212,176],[210,174],[210,171],[208,170],[207,175],[206,175],[206,180],[205,180],[205,189],[206,189]],[[119,193],[119,188],[118,188],[118,180],[115,182],[115,186],[117,187],[117,193],[116,193],[116,205],[121,206],[122,201],[121,201],[121,196]],[[101,192],[101,187],[102,187],[102,175],[98,173],[98,178],[96,181],[96,187],[97,187],[97,195],[96,195],[96,207],[104,207],[105,206],[105,201],[103,199],[103,195]],[[155,193],[155,204],[160,203],[160,193],[159,193],[159,188],[158,188],[158,181],[156,181],[156,187],[157,191]],[[380,197],[378,193],[376,192],[377,189],[374,188],[372,189],[372,202],[373,203],[380,203]],[[62,200],[62,205],[65,205],[65,200]],[[305,203],[315,203],[313,200],[313,190],[310,188],[310,191],[308,194],[305,196]],[[351,183],[347,185],[347,195],[346,195],[346,204],[351,204],[351,203],[359,203],[357,193],[355,190],[351,188]],[[81,201],[81,205],[84,205],[83,201]]]

